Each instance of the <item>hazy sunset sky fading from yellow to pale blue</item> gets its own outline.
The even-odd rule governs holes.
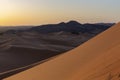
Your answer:
[[[0,0],[0,26],[119,22],[120,0]]]

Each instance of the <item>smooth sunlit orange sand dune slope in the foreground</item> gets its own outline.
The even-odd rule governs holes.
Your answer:
[[[120,23],[82,46],[4,80],[119,80]]]

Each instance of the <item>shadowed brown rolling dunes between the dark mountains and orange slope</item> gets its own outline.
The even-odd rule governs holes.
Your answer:
[[[28,31],[0,34],[0,79],[23,71],[22,67],[26,70],[28,65],[41,63],[43,60],[71,50],[94,36],[86,33],[41,34]],[[19,68],[21,70],[14,71]]]

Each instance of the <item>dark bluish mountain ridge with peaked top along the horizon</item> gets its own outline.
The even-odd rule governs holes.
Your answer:
[[[37,31],[39,33],[53,33],[53,32],[71,32],[71,33],[93,33],[98,34],[113,24],[108,25],[108,23],[104,24],[80,24],[77,21],[70,21],[67,23],[59,23],[59,24],[49,24],[37,26],[29,29],[28,31]]]

